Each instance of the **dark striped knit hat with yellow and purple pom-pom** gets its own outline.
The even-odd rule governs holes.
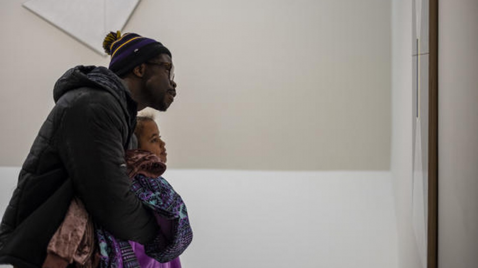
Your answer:
[[[136,66],[156,57],[171,52],[160,42],[138,34],[120,31],[110,32],[103,40],[104,52],[111,55],[109,69],[117,76],[123,77]]]

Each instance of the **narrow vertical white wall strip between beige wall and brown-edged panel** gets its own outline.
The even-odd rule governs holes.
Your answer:
[[[391,176],[400,268],[423,267],[412,226],[412,67],[412,0],[393,0]]]

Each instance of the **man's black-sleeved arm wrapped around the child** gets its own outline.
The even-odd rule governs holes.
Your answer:
[[[144,244],[154,238],[158,227],[152,213],[130,191],[123,149],[127,129],[114,112],[118,106],[99,95],[80,97],[65,111],[58,129],[58,152],[75,194],[93,219],[118,238]]]

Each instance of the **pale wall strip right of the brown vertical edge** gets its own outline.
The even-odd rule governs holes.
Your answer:
[[[439,0],[438,265],[478,264],[478,1]]]

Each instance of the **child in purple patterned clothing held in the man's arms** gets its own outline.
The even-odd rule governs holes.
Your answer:
[[[43,268],[65,268],[73,262],[85,268],[96,268],[98,263],[101,268],[181,268],[177,256],[191,243],[192,231],[181,197],[160,176],[167,154],[153,115],[138,115],[135,135],[140,150],[127,151],[126,162],[131,191],[154,211],[161,232],[145,246],[116,239],[94,226],[75,198],[48,244]]]

